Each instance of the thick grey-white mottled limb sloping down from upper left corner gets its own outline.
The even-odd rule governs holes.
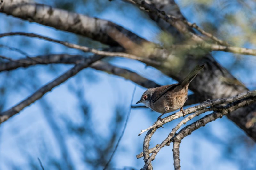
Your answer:
[[[89,17],[28,0],[5,1],[1,11],[8,15],[51,26],[58,30],[83,35],[111,46],[119,45],[109,33],[116,28],[135,43],[146,41],[136,34],[110,21]],[[58,21],[58,22],[56,22]]]

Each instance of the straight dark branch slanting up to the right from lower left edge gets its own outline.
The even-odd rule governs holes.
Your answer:
[[[103,58],[103,56],[96,55],[92,58],[87,59],[87,61],[84,61],[84,62],[81,62],[81,63],[77,64],[72,69],[68,70],[67,72],[65,72],[64,74],[62,74],[61,76],[59,76],[58,78],[53,80],[52,82],[48,83],[47,85],[44,85],[42,88],[37,90],[34,94],[29,96],[27,99],[21,101],[20,103],[13,106],[9,110],[0,113],[0,123],[8,120],[13,115],[19,113],[22,109],[31,105],[36,100],[40,99],[45,93],[51,91],[54,87],[56,87],[56,86],[60,85],[61,83],[65,82],[68,78],[76,75],[82,69],[88,67],[93,62],[95,62],[97,60],[100,60],[102,58]]]

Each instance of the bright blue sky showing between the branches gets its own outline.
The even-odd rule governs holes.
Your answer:
[[[47,3],[47,1],[37,2]],[[98,5],[105,3],[103,0],[100,2],[101,4],[95,4],[93,1],[88,1],[86,6],[80,6],[77,11],[113,21],[143,38],[155,41],[155,36],[160,30],[146,15],[141,15],[142,11],[132,5],[126,5],[122,8],[123,11],[120,11],[120,4],[124,3],[116,0],[112,1],[111,4],[108,3],[106,8],[100,7],[99,11],[93,12],[93,9],[96,9]],[[196,22],[196,18],[193,18],[189,8],[184,8],[182,12],[188,20]],[[36,23],[29,23],[4,14],[0,14],[0,16],[1,33],[24,31],[60,40],[65,37],[65,41],[72,43],[78,41],[76,35],[72,33],[58,31]],[[84,38],[83,41],[86,43],[87,39]],[[55,43],[19,36],[1,38],[0,44],[20,48],[31,56],[48,53],[82,54],[80,51]],[[2,48],[0,48],[0,54],[13,59],[22,57],[20,54]],[[229,53],[214,53],[214,57],[224,67],[228,67],[234,62],[232,54]],[[256,76],[256,70],[254,69],[256,62],[252,56],[246,56],[243,59],[241,67],[232,68],[230,71],[236,78],[248,83],[252,77]],[[111,60],[110,63],[136,71],[138,74],[161,85],[175,82],[152,67],[145,68],[145,64],[138,61],[116,58]],[[2,83],[7,82],[10,84],[4,110],[23,100],[35,89],[52,81],[69,68],[71,68],[70,65],[43,65],[26,69],[20,68],[10,71],[10,73],[1,72],[0,78],[4,80]],[[68,155],[76,169],[91,169],[79,155],[81,143],[65,129],[65,121],[63,120],[68,119],[75,124],[81,123],[80,110],[78,109],[79,101],[71,89],[83,89],[81,91],[82,95],[90,105],[90,113],[92,115],[91,124],[88,126],[94,127],[97,134],[108,138],[111,133],[110,123],[114,117],[116,106],[122,108],[124,115],[127,114],[134,86],[134,83],[124,78],[90,68],[84,69],[76,77],[54,88],[42,99],[26,107],[0,126],[0,169],[10,169],[12,164],[20,169],[31,169],[27,161],[27,155],[35,159],[36,164],[38,164],[37,157],[41,159],[43,164],[48,159],[48,155],[61,159],[60,146],[47,123],[47,114],[50,114],[57,122],[60,132],[65,138],[64,142],[68,147]],[[255,86],[250,86],[250,89],[255,89]],[[140,99],[145,90],[145,88],[137,86],[133,104]],[[47,101],[51,106],[51,112],[43,112],[41,104],[43,101]],[[142,151],[145,134],[139,137],[137,135],[140,130],[152,125],[158,116],[158,113],[149,109],[132,109],[123,139],[113,158],[113,167],[124,168],[125,166],[132,166],[140,169],[143,166],[143,159],[136,159],[136,154]],[[161,143],[179,121],[175,120],[166,124],[164,128],[158,129],[152,137],[150,146]],[[123,125],[124,122],[119,127],[120,132]],[[247,167],[254,169],[256,146],[255,144],[249,146],[248,143],[244,142],[243,138],[246,138],[244,132],[226,117],[211,122],[182,140],[180,145],[181,167],[183,169],[235,170],[241,169],[241,162],[246,161]],[[234,142],[237,144],[234,144]],[[228,148],[229,145],[234,147],[233,149],[231,148],[231,151]],[[172,145],[164,147],[152,164],[155,169],[170,169],[170,167],[172,169]],[[39,168],[39,164],[37,166]]]

